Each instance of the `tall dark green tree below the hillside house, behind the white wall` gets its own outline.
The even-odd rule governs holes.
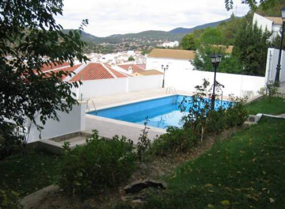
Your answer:
[[[242,63],[244,74],[264,76],[270,35],[267,30],[263,32],[258,28],[256,23],[244,22],[241,25],[233,55]]]

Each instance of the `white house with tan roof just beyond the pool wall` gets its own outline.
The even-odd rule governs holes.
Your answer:
[[[193,70],[191,61],[195,58],[195,51],[174,49],[153,49],[146,59],[146,70],[160,70],[162,65],[169,66],[169,70]]]

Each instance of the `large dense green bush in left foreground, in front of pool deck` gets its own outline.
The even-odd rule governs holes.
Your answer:
[[[89,196],[113,188],[131,176],[136,160],[131,141],[118,136],[112,140],[99,138],[95,130],[86,142],[72,150],[65,146],[59,185],[68,194]]]

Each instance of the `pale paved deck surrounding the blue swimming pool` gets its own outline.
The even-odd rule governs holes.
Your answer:
[[[187,91],[176,91],[175,94],[192,95],[192,92]],[[128,93],[120,93],[108,96],[98,96],[88,100],[87,112],[104,109],[108,107],[119,106],[127,103],[139,102],[143,100],[170,96],[173,93],[167,93],[167,88],[153,88],[142,91],[133,91]],[[95,107],[94,107],[94,105]],[[129,123],[124,121],[118,121],[109,118],[103,118],[99,116],[86,114],[86,133],[92,133],[92,130],[96,129],[99,132],[99,136],[112,138],[115,135],[125,136],[127,139],[131,139],[134,143],[141,134],[143,125]],[[166,133],[165,129],[159,129],[155,127],[149,127],[148,137],[154,139]]]

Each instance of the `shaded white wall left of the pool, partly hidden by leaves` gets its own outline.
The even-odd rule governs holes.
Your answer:
[[[86,125],[85,111],[86,103],[73,105],[72,110],[69,113],[57,111],[59,121],[48,119],[46,124],[43,125],[44,129],[41,132],[37,130],[35,125],[32,125],[28,136],[28,143],[40,139],[51,139],[74,132],[84,131]],[[39,117],[36,118],[36,121],[41,124]]]

